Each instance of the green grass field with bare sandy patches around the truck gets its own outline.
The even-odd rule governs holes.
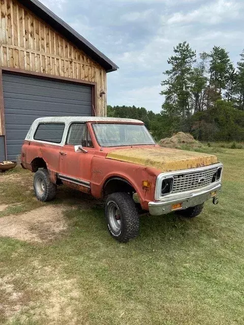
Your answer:
[[[244,150],[217,155],[219,205],[193,220],[143,216],[128,244],[109,236],[100,202],[59,188],[43,204],[29,172],[0,175],[0,232],[13,221],[0,237],[0,323],[243,324]]]

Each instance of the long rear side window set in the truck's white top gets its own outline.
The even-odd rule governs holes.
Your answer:
[[[61,143],[65,129],[64,123],[40,123],[34,135],[35,140]]]

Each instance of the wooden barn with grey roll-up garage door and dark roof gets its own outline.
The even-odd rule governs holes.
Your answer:
[[[42,116],[106,116],[108,57],[37,0],[0,0],[0,161]]]

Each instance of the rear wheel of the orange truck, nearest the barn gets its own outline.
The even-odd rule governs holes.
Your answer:
[[[38,200],[46,202],[55,198],[57,185],[50,181],[46,169],[39,169],[34,176],[34,191]]]

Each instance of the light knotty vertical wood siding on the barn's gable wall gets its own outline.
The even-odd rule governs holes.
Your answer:
[[[0,0],[0,19],[0,66],[96,82],[95,109],[106,115],[104,68],[15,0]]]

